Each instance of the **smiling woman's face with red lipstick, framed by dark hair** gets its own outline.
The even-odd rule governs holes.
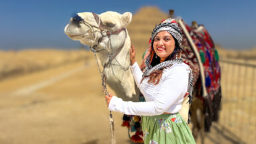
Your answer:
[[[167,31],[160,31],[154,38],[153,47],[160,62],[164,62],[174,52],[175,40]]]

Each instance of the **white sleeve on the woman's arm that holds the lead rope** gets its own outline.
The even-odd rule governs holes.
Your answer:
[[[108,109],[127,115],[160,115],[182,99],[188,89],[188,72],[185,68],[173,68],[158,90],[152,102],[124,102],[113,96]]]

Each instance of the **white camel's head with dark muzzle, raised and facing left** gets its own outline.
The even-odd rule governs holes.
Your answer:
[[[102,38],[106,37],[107,32],[112,33],[124,29],[131,21],[132,13],[129,12],[122,15],[113,11],[107,11],[100,15],[90,12],[77,13],[71,17],[64,33],[72,40],[80,40],[82,44],[94,46],[102,42]]]

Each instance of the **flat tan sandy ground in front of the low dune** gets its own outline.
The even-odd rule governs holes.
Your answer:
[[[128,130],[120,126],[121,113],[114,113],[114,123],[116,143],[132,143]],[[96,62],[75,62],[0,81],[0,130],[4,144],[110,143]],[[205,143],[234,143],[221,131],[214,123]]]

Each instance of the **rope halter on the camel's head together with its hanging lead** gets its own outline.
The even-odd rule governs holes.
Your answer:
[[[90,46],[90,50],[94,53],[94,57],[95,57],[96,62],[97,62],[98,70],[99,70],[100,75],[102,77],[102,86],[103,86],[102,91],[105,93],[105,95],[109,96],[109,93],[106,90],[106,76],[104,74],[104,69],[107,66],[111,66],[111,68],[112,68],[112,65],[120,66],[120,68],[122,68],[122,70],[128,70],[128,68],[130,67],[130,66],[128,66],[127,68],[124,68],[124,66],[122,66],[120,64],[120,62],[118,62],[118,60],[116,60],[116,62],[118,62],[118,64],[112,64],[112,60],[116,59],[116,56],[122,50],[122,47],[125,44],[125,40],[124,40],[123,44],[118,48],[116,54],[113,54],[112,53],[113,50],[112,50],[112,44],[111,44],[110,36],[111,35],[117,35],[118,33],[122,32],[122,31],[125,31],[125,33],[126,33],[126,29],[123,28],[123,29],[119,29],[118,31],[114,31],[114,32],[106,31],[106,29],[102,29],[104,27],[104,25],[103,25],[100,17],[98,17],[98,15],[96,13],[92,13],[92,15],[94,16],[94,19],[95,19],[96,23],[98,24],[98,27],[95,27],[94,25],[90,25],[90,23],[87,23],[86,21],[83,21],[83,23],[84,23],[84,25],[88,25],[88,27],[90,27],[90,29],[92,30],[92,33],[94,32],[94,28],[96,28],[96,29],[100,30],[100,34],[102,35],[102,37],[99,38],[97,44]],[[106,35],[103,35],[104,31],[106,31]],[[94,33],[93,33],[93,36],[94,36],[94,41],[96,41],[96,36],[95,36]],[[98,44],[100,43],[100,41],[102,40],[102,38],[104,36],[108,36],[108,45],[111,49],[111,52],[108,51],[107,46],[104,47],[104,48],[101,48],[100,50],[95,50],[95,48],[98,46]],[[127,36],[127,33],[126,33],[126,36]],[[108,62],[106,62],[106,64],[104,64],[103,70],[100,69],[100,65],[98,64],[98,58],[96,57],[96,52],[101,52],[102,50],[106,50],[108,52]],[[112,68],[112,73],[114,74],[113,68]],[[116,76],[116,75],[114,74],[114,76]],[[116,137],[115,137],[115,133],[114,133],[114,119],[113,119],[111,111],[110,111],[110,114],[109,114],[109,122],[110,122],[110,132],[111,132],[111,135],[112,135],[112,144],[116,144]]]

